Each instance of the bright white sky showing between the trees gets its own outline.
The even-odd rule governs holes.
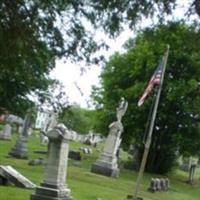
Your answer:
[[[186,11],[187,5],[184,1],[179,0],[179,6],[175,12],[173,19],[181,19]],[[156,23],[156,19],[153,20]],[[143,20],[142,26],[146,27],[151,24],[152,20]],[[110,40],[106,38],[101,32],[98,33],[99,38],[106,38],[106,42],[110,46],[108,51],[103,52],[106,59],[109,58],[115,51],[122,51],[122,45],[130,38],[134,37],[134,33],[128,28],[125,28],[118,38]],[[102,53],[102,52],[101,52]],[[81,67],[84,67],[86,71],[81,73]],[[75,64],[70,61],[57,60],[56,67],[51,72],[51,77],[60,80],[64,87],[65,92],[69,97],[70,103],[77,103],[81,107],[92,107],[90,94],[92,85],[99,85],[99,75],[101,73],[101,66],[87,67],[85,64]]]

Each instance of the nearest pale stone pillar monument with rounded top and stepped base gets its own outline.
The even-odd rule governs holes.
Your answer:
[[[47,136],[49,145],[44,180],[31,195],[31,200],[71,200],[70,189],[66,185],[69,149],[67,132],[55,127]]]

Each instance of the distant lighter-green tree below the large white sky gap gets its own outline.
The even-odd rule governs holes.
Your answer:
[[[81,108],[75,104],[63,109],[59,121],[69,129],[87,134],[93,128],[93,113],[94,111]]]

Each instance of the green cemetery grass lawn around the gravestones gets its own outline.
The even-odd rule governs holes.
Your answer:
[[[46,146],[41,146],[39,137],[33,134],[29,137],[29,159],[46,157],[42,154],[34,153],[35,150],[46,150]],[[28,160],[6,158],[16,141],[16,134],[12,141],[0,141],[0,165],[11,165],[21,174],[26,176],[35,184],[39,185],[43,180],[43,166],[29,166]],[[80,147],[90,147],[87,145],[71,142],[70,149],[78,150]],[[119,178],[109,178],[90,172],[91,163],[97,159],[103,145],[97,145],[93,149],[93,154],[82,154],[82,161],[69,160],[67,183],[71,189],[73,200],[125,200],[128,194],[133,192],[137,173],[129,170],[121,170]],[[127,155],[123,153],[122,158]],[[141,184],[140,196],[144,200],[199,200],[200,199],[200,170],[195,173],[194,185],[188,185],[185,181],[188,174],[174,170],[168,177],[171,181],[171,188],[167,192],[150,193],[147,191],[152,177],[162,177],[155,174],[145,174]],[[34,189],[22,189],[15,186],[0,186],[0,200],[28,200]],[[42,200],[42,199],[41,199]]]

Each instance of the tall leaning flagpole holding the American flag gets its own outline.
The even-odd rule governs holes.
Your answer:
[[[151,145],[151,137],[152,137],[152,133],[153,133],[154,122],[155,122],[157,109],[158,109],[158,103],[159,103],[160,94],[161,94],[161,90],[162,90],[168,54],[169,54],[169,45],[167,45],[167,50],[166,50],[166,53],[165,53],[164,58],[163,58],[163,73],[161,75],[160,87],[158,89],[158,93],[157,93],[154,108],[153,108],[153,113],[152,113],[152,117],[151,117],[151,122],[150,122],[147,140],[146,140],[146,143],[145,143],[145,149],[144,149],[144,153],[143,153],[143,157],[142,157],[142,162],[141,162],[141,165],[140,165],[139,174],[138,174],[137,181],[136,181],[136,187],[135,187],[135,190],[134,190],[134,193],[133,193],[133,198],[132,198],[133,200],[138,200],[137,196],[138,196],[138,192],[139,192],[139,189],[140,189],[140,183],[141,183],[142,176],[143,176],[144,169],[145,169],[145,165],[146,165],[146,161],[147,161],[147,157],[148,157],[148,153],[149,153],[149,148],[150,148],[150,145]]]

